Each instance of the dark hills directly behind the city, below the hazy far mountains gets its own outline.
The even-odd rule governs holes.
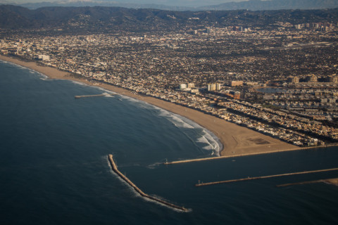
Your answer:
[[[152,30],[204,29],[220,25],[267,27],[276,23],[337,23],[338,8],[280,11],[163,11],[121,7],[44,7],[0,5],[0,28],[82,30],[84,32],[143,32]],[[185,29],[185,28],[184,28]]]

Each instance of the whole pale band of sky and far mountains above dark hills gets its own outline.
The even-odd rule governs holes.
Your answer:
[[[338,0],[0,0],[36,9],[50,6],[115,6],[123,8],[156,8],[167,11],[231,11],[338,8]]]

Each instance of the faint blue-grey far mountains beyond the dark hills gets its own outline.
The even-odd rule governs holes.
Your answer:
[[[0,0],[0,4],[13,4],[11,1]],[[279,9],[314,9],[314,8],[337,8],[337,0],[249,0],[227,2],[213,6],[184,7],[165,6],[161,4],[130,4],[116,1],[95,1],[95,0],[65,0],[54,2],[38,2],[15,4],[25,8],[35,9],[47,6],[117,6],[124,8],[155,8],[171,11],[204,11],[204,10],[239,10],[248,9],[251,11],[279,10]]]

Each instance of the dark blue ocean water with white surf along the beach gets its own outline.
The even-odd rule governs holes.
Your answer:
[[[0,224],[337,224],[338,186],[277,184],[338,177],[322,172],[196,188],[221,181],[338,167],[338,148],[180,165],[217,155],[199,125],[125,96],[0,61]],[[111,172],[149,195],[145,200]]]

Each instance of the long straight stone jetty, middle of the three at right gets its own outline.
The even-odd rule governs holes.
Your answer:
[[[312,174],[312,173],[318,173],[318,172],[329,172],[329,171],[334,171],[334,170],[338,170],[338,168],[319,169],[319,170],[312,170],[312,171],[294,172],[294,173],[289,173],[289,174],[276,174],[276,175],[269,175],[269,176],[253,176],[253,177],[248,176],[248,177],[242,178],[242,179],[233,179],[233,180],[227,180],[227,181],[215,181],[215,182],[195,184],[195,186],[200,187],[200,186],[208,186],[208,185],[215,185],[215,184],[227,184],[227,183],[239,182],[239,181],[267,179],[267,178],[273,178],[273,177],[279,177],[279,176],[291,176],[291,175],[298,175],[298,174]]]

